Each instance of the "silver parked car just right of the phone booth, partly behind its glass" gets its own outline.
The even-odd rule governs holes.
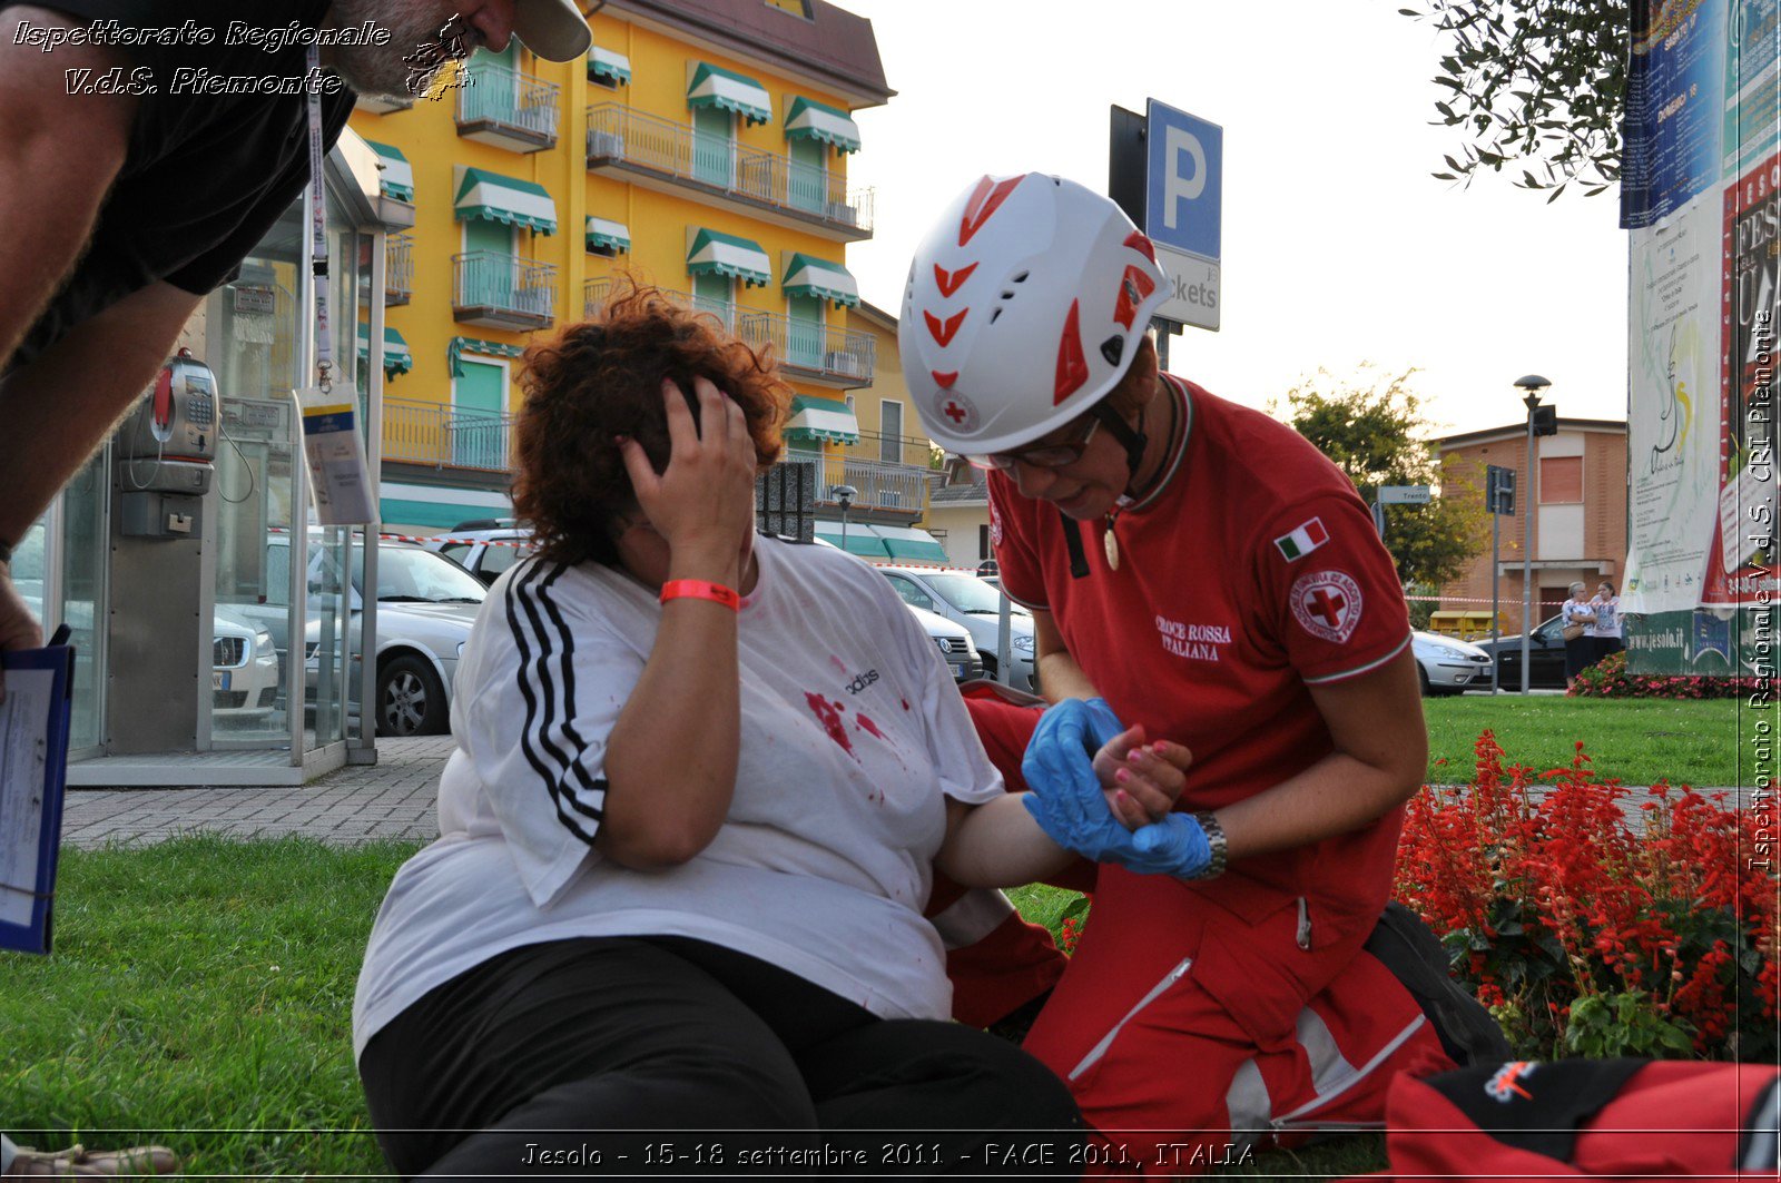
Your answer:
[[[324,554],[317,549],[317,556]],[[354,579],[349,629],[356,627],[360,597],[362,588]],[[433,736],[447,729],[458,656],[470,640],[470,625],[486,597],[488,588],[470,572],[426,547],[390,538],[378,543],[378,679],[372,714],[379,736]],[[312,618],[303,647],[310,698],[315,697],[321,677],[319,645],[321,620]],[[356,663],[354,652],[347,673],[351,704],[358,702]]]

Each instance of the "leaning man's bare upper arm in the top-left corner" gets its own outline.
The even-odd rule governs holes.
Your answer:
[[[64,71],[98,77],[126,66],[121,55],[87,45],[50,53],[14,45],[25,21],[78,27],[50,9],[0,14],[0,226],[28,228],[0,237],[0,369],[80,258],[105,191],[123,167],[135,118],[134,96],[68,93]],[[16,540],[0,529],[0,542]]]

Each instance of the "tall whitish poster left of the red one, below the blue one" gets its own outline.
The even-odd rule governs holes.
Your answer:
[[[1719,499],[1719,198],[1633,235],[1628,613],[1701,602]]]

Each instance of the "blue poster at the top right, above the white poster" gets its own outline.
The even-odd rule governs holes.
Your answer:
[[[1621,153],[1621,226],[1651,226],[1720,171],[1726,0],[1635,0]]]

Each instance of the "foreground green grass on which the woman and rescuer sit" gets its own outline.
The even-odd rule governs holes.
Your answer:
[[[43,1147],[125,1131],[175,1147],[194,1176],[383,1174],[351,1058],[353,985],[413,848],[185,837],[64,852],[55,955],[0,953],[4,1130]],[[1021,903],[1045,921],[1070,898],[1038,887]],[[1222,1174],[1384,1165],[1366,1135]]]

